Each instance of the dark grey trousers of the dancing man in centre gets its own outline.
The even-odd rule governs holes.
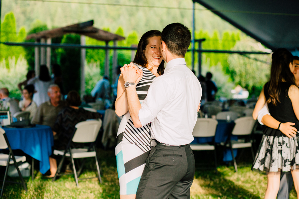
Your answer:
[[[189,199],[195,174],[190,145],[152,147],[143,170],[137,199]]]

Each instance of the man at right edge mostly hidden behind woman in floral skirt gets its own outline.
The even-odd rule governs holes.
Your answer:
[[[294,56],[293,64],[295,65],[295,69],[293,71],[293,74],[295,76],[295,82],[297,86],[299,86],[299,57],[298,56]],[[268,123],[267,121],[265,121],[266,117],[268,117],[268,119],[271,119],[271,120],[267,120]],[[264,107],[259,111],[257,120],[261,125],[267,125],[270,128],[278,128],[278,125],[280,123],[270,115],[267,103],[265,103]],[[294,133],[296,133],[296,131],[298,131],[299,129],[294,128],[292,125],[295,124],[291,122],[282,123],[279,127],[279,130],[284,134],[289,134],[289,136],[296,136]],[[293,186],[293,178],[291,172],[281,172],[280,186],[277,194],[277,199],[289,199],[292,186]]]

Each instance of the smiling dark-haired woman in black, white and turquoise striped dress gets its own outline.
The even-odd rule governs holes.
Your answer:
[[[143,102],[147,91],[156,77],[164,72],[164,61],[160,52],[161,32],[150,30],[141,37],[134,58],[134,65],[143,71],[139,82],[135,82],[140,103]],[[117,131],[117,146],[115,155],[117,173],[120,184],[121,199],[135,198],[137,187],[150,153],[150,123],[135,128],[128,112],[127,93],[124,79],[120,75],[117,84],[117,99],[115,112],[124,115]]]

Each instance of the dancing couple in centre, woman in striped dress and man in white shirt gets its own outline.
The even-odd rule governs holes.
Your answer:
[[[190,198],[195,160],[189,144],[202,94],[184,59],[190,41],[179,23],[148,31],[133,63],[121,68],[115,102],[117,115],[124,115],[115,148],[121,199]]]

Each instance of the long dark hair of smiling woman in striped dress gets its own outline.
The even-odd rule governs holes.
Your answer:
[[[144,54],[146,46],[149,44],[149,39],[153,36],[161,36],[161,32],[159,30],[150,30],[142,35],[140,41],[138,43],[137,52],[134,58],[133,63],[136,63],[144,68],[147,68],[148,61]],[[161,64],[158,67],[157,73],[162,75],[164,73],[164,60],[162,60]]]

